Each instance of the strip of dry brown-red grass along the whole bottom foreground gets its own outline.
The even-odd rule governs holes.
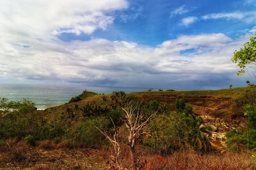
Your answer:
[[[1,148],[0,169],[109,169],[111,150],[31,148],[24,143]],[[122,165],[129,169],[129,153],[122,150]],[[193,150],[174,152],[162,157],[152,155],[145,147],[138,148],[141,169],[255,169],[256,160],[249,153],[211,153],[202,155]]]

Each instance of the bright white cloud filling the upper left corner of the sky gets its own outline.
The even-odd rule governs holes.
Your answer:
[[[49,32],[91,34],[113,22],[108,12],[127,8],[125,0],[0,1],[0,28],[6,35],[45,36]]]

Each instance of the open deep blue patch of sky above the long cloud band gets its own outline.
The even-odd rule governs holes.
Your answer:
[[[255,2],[254,2],[255,3]],[[256,4],[256,3],[255,3]],[[74,39],[88,40],[106,38],[113,41],[134,41],[149,46],[157,46],[163,41],[186,34],[207,34],[222,32],[230,38],[241,36],[254,22],[236,18],[204,20],[204,15],[212,13],[246,13],[256,10],[253,1],[170,1],[138,0],[129,1],[129,8],[116,11],[113,24],[106,30],[93,34],[61,34],[63,41]],[[195,23],[185,26],[181,23],[186,17],[197,17]],[[255,17],[255,16],[254,16]]]

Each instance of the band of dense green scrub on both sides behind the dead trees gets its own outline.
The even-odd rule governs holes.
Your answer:
[[[86,96],[92,93],[85,91],[83,94]],[[35,111],[34,104],[28,101],[2,101],[4,110],[1,113],[0,136],[1,139],[16,137],[33,146],[47,147],[51,141],[68,147],[100,148],[108,145],[108,141],[95,127],[110,134],[114,131],[113,123],[121,128],[124,124],[124,111],[121,108],[125,103],[136,100],[134,97],[127,97],[124,92],[113,92],[106,99],[102,97],[99,103],[88,102],[83,107],[75,105],[61,113]],[[207,140],[199,129],[200,120],[183,100],[178,100],[176,105],[179,104],[174,112],[156,100],[141,105],[140,110],[146,117],[152,111],[158,112],[156,120],[147,126],[147,133],[152,137],[145,136],[141,139],[141,144],[152,146],[155,150],[161,148],[159,153],[163,154],[186,145],[198,150],[208,150]],[[159,134],[160,132],[164,134]],[[159,138],[161,135],[162,138]],[[121,134],[120,138],[127,137]],[[162,146],[164,140],[167,140],[168,146]],[[165,147],[167,148],[164,149]]]

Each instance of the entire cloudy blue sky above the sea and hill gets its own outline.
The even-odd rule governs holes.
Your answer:
[[[0,83],[221,89],[256,0],[1,0]]]

